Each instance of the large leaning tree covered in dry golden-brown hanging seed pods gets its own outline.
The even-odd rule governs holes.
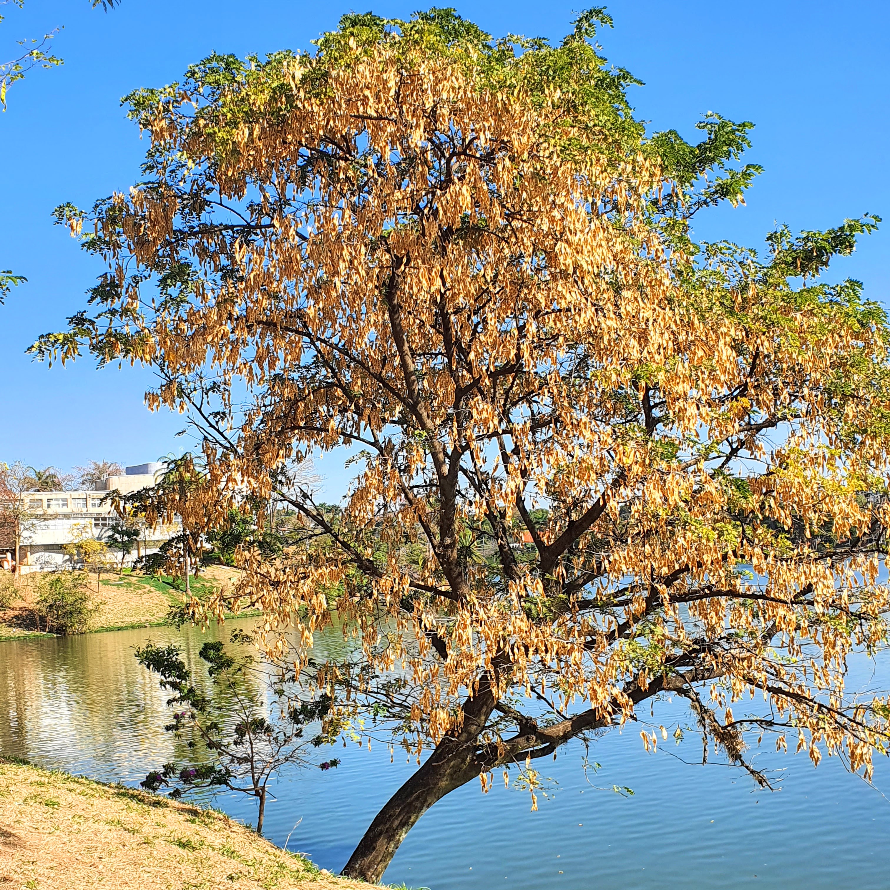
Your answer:
[[[306,644],[336,609],[360,659],[317,683],[432,748],[355,877],[452,789],[533,785],[661,694],[757,781],[751,728],[866,775],[885,750],[886,700],[844,676],[886,635],[890,330],[819,278],[877,220],[695,244],[757,172],[751,125],[646,134],[598,23],[551,46],[349,15],[314,54],[213,56],[130,97],[145,179],[59,211],[109,271],[36,352],[154,365],[206,478],[303,516],[244,554],[241,602]],[[342,509],[282,484],[344,444]]]

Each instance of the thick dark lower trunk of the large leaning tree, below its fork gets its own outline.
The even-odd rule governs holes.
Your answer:
[[[417,820],[449,791],[480,773],[475,746],[453,737],[442,739],[433,753],[374,817],[341,872],[377,884],[396,850]]]

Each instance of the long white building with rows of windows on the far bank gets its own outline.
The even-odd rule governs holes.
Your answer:
[[[74,560],[63,547],[86,534],[105,538],[109,528],[121,523],[106,494],[119,491],[127,494],[150,488],[162,464],[128,466],[122,476],[109,476],[101,489],[94,491],[29,491],[22,500],[29,511],[40,514],[34,528],[22,538],[19,560],[22,572],[72,568]],[[133,562],[139,556],[155,553],[158,547],[178,530],[174,526],[142,529],[134,551],[125,559]]]

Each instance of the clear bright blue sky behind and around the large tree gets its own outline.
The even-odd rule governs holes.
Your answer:
[[[584,7],[579,0],[454,4],[495,35],[554,40]],[[65,64],[13,85],[0,115],[0,269],[28,277],[0,307],[0,460],[67,469],[101,458],[142,463],[182,448],[174,438],[182,418],[150,414],[142,403],[146,371],[97,371],[88,358],[50,369],[24,354],[36,336],[64,327],[100,271],[53,227],[53,207],[88,206],[138,178],[146,146],[119,97],[177,79],[214,50],[308,48],[343,12],[407,17],[418,5],[123,0],[103,13],[88,0],[27,0],[23,10],[4,8],[2,60],[14,55],[14,39],[64,25],[54,44]],[[890,4],[613,0],[609,12],[615,28],[601,36],[604,53],[645,81],[631,100],[651,129],[674,127],[693,138],[708,110],[756,123],[748,159],[765,174],[748,206],[711,212],[697,234],[760,247],[774,222],[813,229],[865,211],[883,215],[882,230],[831,274],[862,279],[867,295],[887,303]],[[318,465],[329,496],[344,489],[339,463],[334,456]]]

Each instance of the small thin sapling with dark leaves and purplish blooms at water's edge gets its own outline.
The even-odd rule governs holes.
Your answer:
[[[247,635],[237,631],[231,638],[247,642]],[[329,719],[331,700],[298,700],[289,694],[285,673],[270,672],[249,655],[233,656],[223,643],[204,643],[198,655],[212,681],[210,694],[198,690],[176,646],[148,642],[136,650],[140,664],[160,675],[161,689],[175,692],[167,701],[175,708],[173,721],[164,728],[185,740],[192,752],[190,763],[152,770],[142,787],[170,788],[170,797],[217,788],[253,795],[256,833],[262,834],[271,779],[288,765],[307,765],[312,749],[336,740],[339,724]],[[266,692],[271,692],[277,713],[267,713]],[[310,732],[312,724],[317,724],[316,732]],[[339,763],[332,758],[318,766],[328,770]]]

